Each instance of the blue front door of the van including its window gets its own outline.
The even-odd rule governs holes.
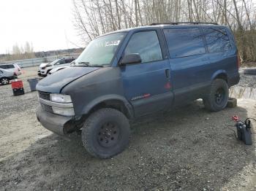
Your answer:
[[[135,110],[135,117],[170,107],[170,64],[164,59],[157,31],[132,34],[123,55],[137,53],[142,62],[121,66],[124,94]]]

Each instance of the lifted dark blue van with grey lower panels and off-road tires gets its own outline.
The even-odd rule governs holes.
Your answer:
[[[203,98],[217,112],[239,82],[230,29],[162,23],[99,36],[75,63],[42,79],[37,119],[64,136],[82,130],[86,150],[112,157],[129,143],[129,120]]]

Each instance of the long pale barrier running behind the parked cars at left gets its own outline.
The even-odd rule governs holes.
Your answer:
[[[18,60],[18,61],[6,61],[4,63],[17,63],[20,68],[27,68],[33,66],[39,66],[41,63],[51,63],[58,58],[78,58],[79,54],[72,55],[58,55],[58,56],[49,56],[45,58],[31,58],[26,60]]]

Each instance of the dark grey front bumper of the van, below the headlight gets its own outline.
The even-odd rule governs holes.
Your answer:
[[[58,114],[50,114],[42,109],[41,106],[37,107],[37,120],[53,133],[57,133],[60,136],[67,134],[65,125],[68,125],[68,122],[72,120],[72,117],[65,117]]]

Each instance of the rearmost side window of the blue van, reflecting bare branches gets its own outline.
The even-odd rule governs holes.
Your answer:
[[[231,49],[230,39],[224,28],[204,28],[209,52],[225,52]]]

